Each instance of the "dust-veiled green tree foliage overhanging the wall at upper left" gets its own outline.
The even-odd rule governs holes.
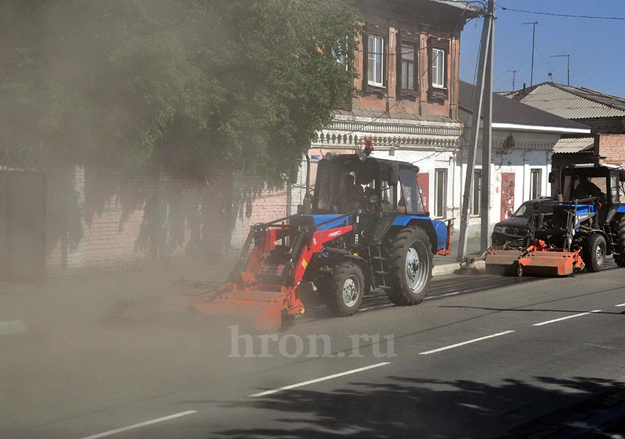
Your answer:
[[[0,150],[277,182],[351,87],[357,33],[342,0],[3,2]]]

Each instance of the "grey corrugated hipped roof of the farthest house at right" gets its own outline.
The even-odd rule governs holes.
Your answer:
[[[503,95],[567,119],[625,116],[624,98],[589,88],[540,83],[526,88],[525,92],[519,90]]]

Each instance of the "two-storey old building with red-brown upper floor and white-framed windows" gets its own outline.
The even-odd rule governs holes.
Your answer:
[[[351,100],[317,133],[309,154],[310,185],[325,154],[356,151],[372,139],[376,154],[419,166],[426,209],[450,218],[462,122],[458,113],[460,31],[478,15],[468,3],[444,0],[357,2],[363,33]],[[302,166],[292,202],[306,192]]]

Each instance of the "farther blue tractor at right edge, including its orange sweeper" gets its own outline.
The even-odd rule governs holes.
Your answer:
[[[549,183],[556,173],[549,174]],[[492,247],[487,270],[567,276],[585,269],[598,272],[612,255],[625,267],[625,170],[598,163],[561,169],[553,212],[536,203],[524,249]],[[512,248],[512,246],[508,247]]]

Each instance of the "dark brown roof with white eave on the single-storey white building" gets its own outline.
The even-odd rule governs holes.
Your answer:
[[[474,85],[460,81],[459,105],[468,113],[472,113],[474,90]],[[517,127],[530,131],[590,133],[590,128],[585,125],[495,93],[492,95],[492,122],[493,128],[501,129]]]

